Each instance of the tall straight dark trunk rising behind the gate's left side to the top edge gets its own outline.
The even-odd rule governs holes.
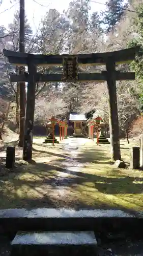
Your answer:
[[[19,52],[25,52],[25,10],[24,10],[24,0],[20,0],[20,30],[19,30]],[[23,74],[25,71],[24,67],[19,67],[19,74]],[[20,122],[19,122],[19,142],[18,146],[23,146],[24,139],[24,119],[25,119],[25,82],[19,82],[19,101],[20,101]]]

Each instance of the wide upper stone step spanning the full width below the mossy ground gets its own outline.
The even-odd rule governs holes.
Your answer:
[[[143,229],[143,214],[128,214],[122,210],[75,210],[65,208],[0,210],[0,228],[4,232],[18,230],[113,230]]]

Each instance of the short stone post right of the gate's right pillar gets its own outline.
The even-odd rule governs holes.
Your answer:
[[[139,147],[132,147],[131,148],[131,162],[130,167],[132,169],[139,169]]]

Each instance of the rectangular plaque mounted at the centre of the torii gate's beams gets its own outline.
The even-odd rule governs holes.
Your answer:
[[[63,81],[74,82],[78,80],[77,57],[69,56],[63,58]]]

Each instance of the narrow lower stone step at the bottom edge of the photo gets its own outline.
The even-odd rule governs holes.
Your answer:
[[[11,242],[11,256],[96,255],[93,231],[23,232],[18,231]]]

